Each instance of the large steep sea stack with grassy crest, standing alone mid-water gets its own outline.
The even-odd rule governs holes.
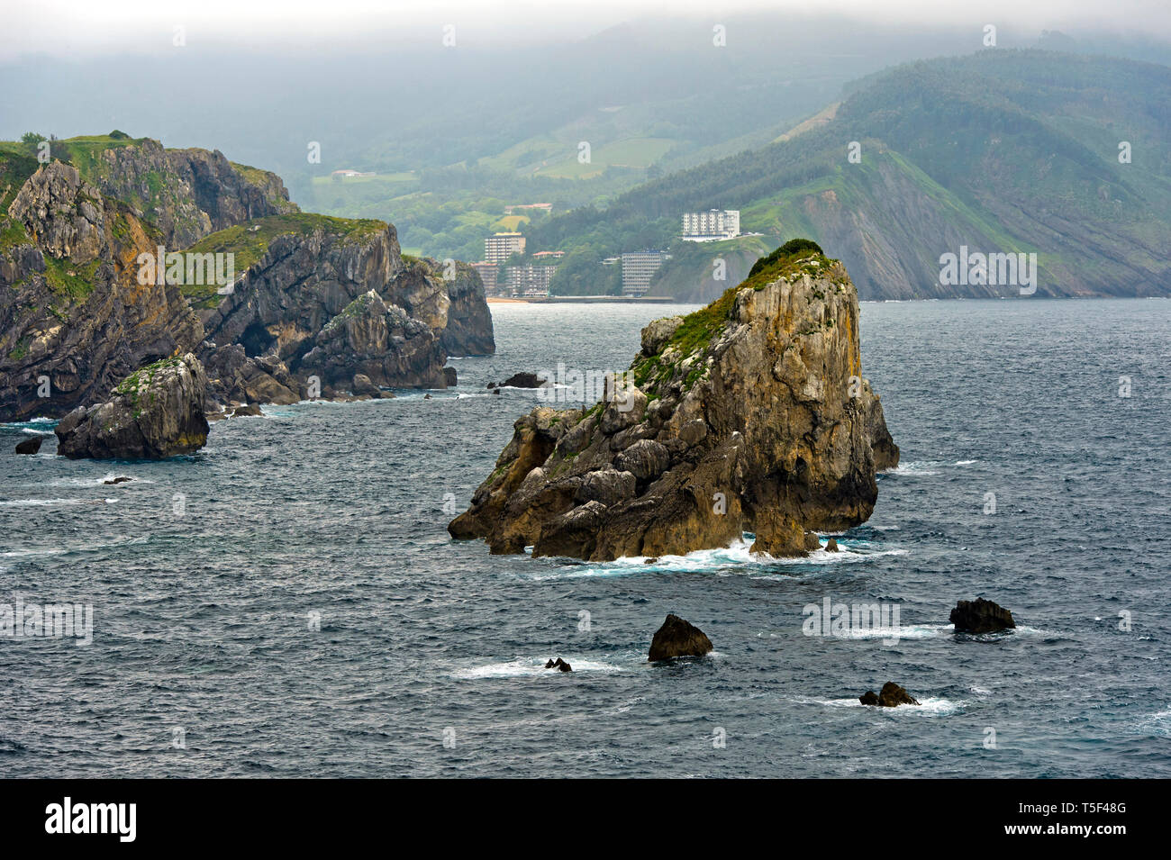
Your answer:
[[[865,521],[897,465],[862,378],[836,260],[780,256],[687,317],[651,323],[593,408],[537,407],[448,531],[493,552],[609,560],[726,546],[804,555]]]

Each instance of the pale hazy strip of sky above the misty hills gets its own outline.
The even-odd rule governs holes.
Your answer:
[[[87,59],[231,43],[258,50],[347,49],[433,39],[459,44],[584,37],[630,20],[691,16],[719,22],[745,12],[838,13],[888,23],[1090,29],[1171,37],[1167,0],[0,0],[0,60],[46,53]],[[728,35],[730,47],[734,32]]]

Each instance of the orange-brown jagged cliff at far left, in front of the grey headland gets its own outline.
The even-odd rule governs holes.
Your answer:
[[[75,167],[39,166],[0,199],[12,200],[0,213],[0,420],[63,415],[203,339],[178,287],[138,283],[158,231]]]

